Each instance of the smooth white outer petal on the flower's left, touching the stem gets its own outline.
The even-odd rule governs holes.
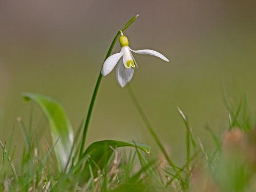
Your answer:
[[[108,75],[116,66],[116,63],[119,61],[119,59],[123,56],[123,53],[116,53],[114,55],[111,55],[108,57],[102,67],[101,74],[103,76]]]

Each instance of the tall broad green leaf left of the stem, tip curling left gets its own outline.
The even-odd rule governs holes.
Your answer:
[[[51,97],[36,93],[24,93],[26,100],[34,101],[44,112],[50,124],[52,142],[59,170],[64,170],[73,144],[73,129],[63,106]]]

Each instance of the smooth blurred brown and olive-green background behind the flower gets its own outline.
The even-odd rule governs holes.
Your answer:
[[[227,127],[225,84],[233,97],[256,97],[256,2],[181,1],[4,1],[0,0],[0,139],[23,139],[16,117],[28,122],[22,92],[58,99],[76,129],[86,116],[103,59],[117,30],[132,49],[153,49],[170,62],[134,55],[139,68],[131,86],[173,157],[185,157],[185,127],[176,106],[189,116],[195,134],[210,146],[208,123],[221,135]],[[115,46],[114,52],[120,49]],[[33,129],[50,140],[44,115],[34,107]],[[154,142],[115,73],[103,77],[87,144],[100,139]],[[17,150],[19,153],[19,150]],[[153,150],[154,152],[154,150]],[[18,155],[17,155],[18,157]]]

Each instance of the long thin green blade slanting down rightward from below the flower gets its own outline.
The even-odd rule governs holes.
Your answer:
[[[156,132],[154,131],[153,127],[151,126],[150,124],[150,121],[147,119],[145,113],[143,112],[137,98],[135,97],[134,93],[133,93],[133,90],[130,86],[130,84],[127,84],[127,90],[133,100],[133,103],[135,104],[136,106],[136,109],[138,110],[140,116],[141,116],[141,119],[143,120],[144,124],[146,125],[147,127],[147,130],[150,132],[150,134],[152,135],[152,137],[154,138],[155,142],[157,143],[157,145],[159,146],[160,150],[162,151],[165,159],[168,161],[168,163],[170,164],[170,166],[172,166],[172,168],[174,169],[174,172],[176,173],[177,177],[180,179],[181,181],[181,184],[183,186],[184,182],[182,180],[182,177],[181,177],[181,174],[177,168],[177,166],[175,165],[175,163],[170,159],[170,157],[168,156],[163,144],[161,143],[160,139],[158,138]]]

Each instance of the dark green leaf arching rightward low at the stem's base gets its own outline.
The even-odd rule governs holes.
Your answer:
[[[82,155],[82,159],[84,157],[88,158],[83,170],[84,178],[88,179],[90,176],[89,165],[92,167],[93,173],[97,173],[98,169],[102,170],[106,166],[114,149],[124,146],[137,147],[145,153],[150,153],[151,150],[149,145],[140,142],[123,142],[116,140],[96,141],[92,143]]]

